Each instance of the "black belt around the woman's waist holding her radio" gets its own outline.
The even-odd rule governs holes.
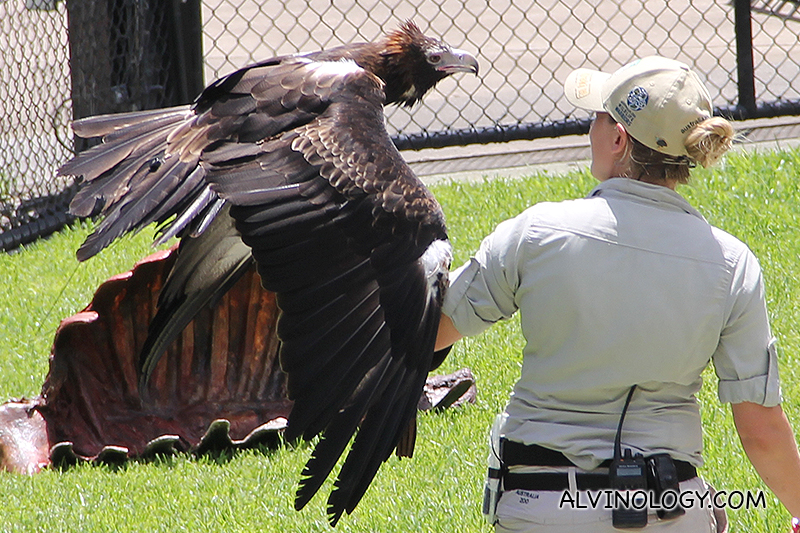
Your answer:
[[[506,468],[509,466],[575,466],[561,452],[537,444],[526,445],[502,439],[500,453]],[[673,461],[679,482],[697,477],[697,469],[694,466],[686,461]],[[600,467],[608,467],[610,464],[611,460],[608,459],[600,463]],[[578,490],[611,488],[608,474],[577,472],[575,480]],[[566,472],[511,473],[506,470],[503,472],[503,488],[505,490],[567,490],[569,489],[569,476]]]

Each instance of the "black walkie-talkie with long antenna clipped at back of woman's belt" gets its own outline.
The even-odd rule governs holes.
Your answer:
[[[640,453],[634,455],[631,450],[626,449],[625,454],[621,451],[622,422],[625,420],[625,413],[631,403],[631,396],[636,385],[631,387],[628,398],[625,400],[625,407],[619,418],[617,436],[614,439],[614,459],[608,469],[609,484],[611,488],[626,494],[615,495],[615,503],[618,503],[611,512],[611,522],[618,529],[642,528],[647,525],[647,465],[644,456]],[[639,501],[636,498],[643,498]],[[626,505],[627,504],[627,505]]]

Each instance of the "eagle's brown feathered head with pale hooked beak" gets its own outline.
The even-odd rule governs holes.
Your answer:
[[[375,73],[386,83],[387,104],[410,107],[451,74],[478,74],[474,56],[426,37],[411,21],[387,34],[381,44],[381,67]]]

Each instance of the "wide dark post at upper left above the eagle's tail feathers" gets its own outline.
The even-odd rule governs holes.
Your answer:
[[[191,102],[204,85],[200,1],[68,2],[73,119]]]

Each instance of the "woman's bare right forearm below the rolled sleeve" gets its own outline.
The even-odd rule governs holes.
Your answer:
[[[800,453],[780,405],[731,404],[748,459],[792,516],[800,516]]]

